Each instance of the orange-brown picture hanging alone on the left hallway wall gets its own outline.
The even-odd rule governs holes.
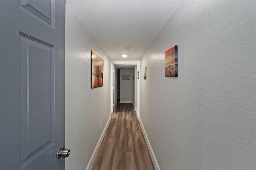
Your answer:
[[[92,66],[92,89],[103,86],[103,64],[104,61],[91,51]]]

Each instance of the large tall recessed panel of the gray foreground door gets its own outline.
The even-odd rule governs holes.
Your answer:
[[[20,161],[54,143],[53,46],[20,34]],[[40,128],[38,128],[40,127]]]

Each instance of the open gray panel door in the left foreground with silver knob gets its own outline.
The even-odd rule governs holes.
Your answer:
[[[0,169],[64,169],[64,0],[0,0]]]

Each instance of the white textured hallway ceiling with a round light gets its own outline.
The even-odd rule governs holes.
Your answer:
[[[180,4],[180,0],[66,1],[112,61],[140,60]]]

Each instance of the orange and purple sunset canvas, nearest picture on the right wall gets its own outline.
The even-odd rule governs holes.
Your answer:
[[[165,52],[165,77],[178,77],[178,45]]]

